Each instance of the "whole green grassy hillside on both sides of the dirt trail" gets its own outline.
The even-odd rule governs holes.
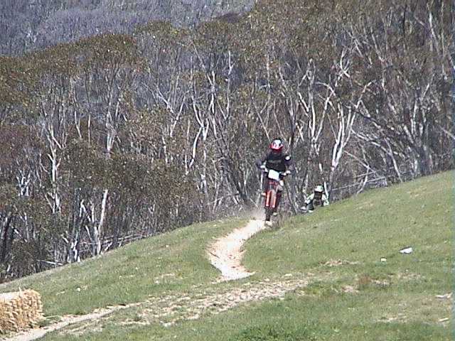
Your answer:
[[[245,223],[236,220],[179,229],[1,291],[35,288],[48,316],[147,300],[44,340],[451,340],[451,299],[437,296],[453,286],[453,175],[371,190],[262,232],[245,246],[256,274],[242,281],[213,283],[204,257],[213,237]],[[414,251],[400,254],[404,247]],[[206,296],[286,278],[309,284],[174,325],[154,320],[172,301],[185,316]]]

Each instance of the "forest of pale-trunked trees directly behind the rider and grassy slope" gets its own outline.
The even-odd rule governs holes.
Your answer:
[[[453,168],[453,1],[359,4],[264,0],[0,56],[1,278],[255,207],[276,136],[290,212],[316,183],[338,199]]]

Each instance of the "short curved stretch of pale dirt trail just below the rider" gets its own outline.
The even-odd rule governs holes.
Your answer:
[[[254,274],[248,272],[241,264],[242,246],[247,239],[265,228],[262,220],[250,220],[247,226],[235,229],[227,236],[218,239],[208,249],[210,263],[221,271],[220,281],[232,281]]]

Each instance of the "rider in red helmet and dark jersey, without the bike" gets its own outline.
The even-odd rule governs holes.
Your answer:
[[[288,154],[283,153],[283,142],[281,139],[274,139],[269,145],[269,151],[262,156],[259,160],[256,161],[257,168],[261,168],[262,170],[273,169],[274,171],[290,174],[289,168],[291,168],[291,156]],[[284,178],[284,174],[280,176],[281,179]],[[262,181],[262,196],[266,195],[267,191],[267,175],[264,176]],[[279,206],[279,200],[281,200],[282,192],[283,192],[284,183],[283,180],[280,181],[280,185],[278,187],[277,192],[277,204],[276,207]]]

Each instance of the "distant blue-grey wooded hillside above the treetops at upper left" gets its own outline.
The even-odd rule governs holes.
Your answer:
[[[0,55],[16,55],[102,33],[130,33],[149,21],[196,26],[244,13],[252,0],[76,0],[0,2]]]

